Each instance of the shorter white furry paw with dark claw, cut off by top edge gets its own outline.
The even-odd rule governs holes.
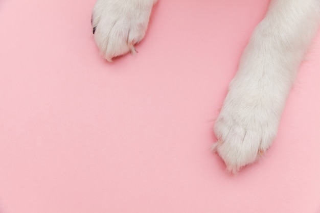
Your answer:
[[[105,59],[135,53],[145,36],[154,0],[98,0],[92,15],[95,41]]]

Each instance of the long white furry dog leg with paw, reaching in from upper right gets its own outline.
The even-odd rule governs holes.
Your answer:
[[[316,33],[318,0],[273,0],[242,56],[213,146],[233,173],[271,146],[295,74]]]

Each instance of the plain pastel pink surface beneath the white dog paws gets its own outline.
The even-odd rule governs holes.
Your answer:
[[[267,0],[160,0],[113,63],[94,0],[0,2],[2,213],[316,212],[320,35],[278,137],[237,176],[210,152],[212,120]]]

